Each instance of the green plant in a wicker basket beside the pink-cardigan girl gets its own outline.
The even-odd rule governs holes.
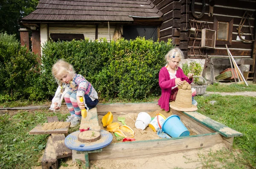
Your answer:
[[[182,70],[184,74],[193,73],[193,82],[191,87],[196,89],[196,95],[204,95],[206,92],[207,81],[201,77],[203,68],[200,63],[193,61],[191,63],[183,63]]]

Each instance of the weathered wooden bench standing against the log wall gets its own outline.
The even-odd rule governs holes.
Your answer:
[[[236,64],[239,66],[241,73],[244,75],[244,79],[245,80],[253,79],[253,77],[248,77],[248,75],[250,73],[254,73],[253,71],[244,71],[243,70],[244,65],[254,65],[253,59],[251,59],[251,58],[234,58],[234,60],[236,61]],[[206,69],[207,69],[207,67],[209,67],[210,72],[211,72],[211,78],[210,78],[210,80],[207,80],[207,81],[210,81],[211,84],[213,84],[215,81],[214,66],[217,66],[217,65],[230,65],[230,60],[228,57],[207,57],[206,58],[202,76],[205,77]]]

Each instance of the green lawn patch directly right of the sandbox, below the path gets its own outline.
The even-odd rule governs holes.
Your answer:
[[[238,132],[243,137],[235,137],[233,148],[241,150],[238,156],[229,166],[240,169],[245,166],[256,168],[256,97],[245,96],[221,96],[210,95],[209,97],[196,96],[198,112],[216,120]],[[212,105],[211,100],[217,102]]]

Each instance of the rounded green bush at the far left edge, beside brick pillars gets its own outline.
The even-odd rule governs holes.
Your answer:
[[[14,35],[0,34],[0,102],[29,98],[39,77],[37,57]]]

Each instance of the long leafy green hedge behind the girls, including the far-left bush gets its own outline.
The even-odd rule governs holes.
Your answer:
[[[157,96],[161,93],[158,73],[165,65],[164,55],[172,48],[170,40],[145,38],[110,43],[106,39],[47,41],[42,65],[38,65],[37,55],[27,52],[14,36],[0,34],[0,102],[52,99],[57,83],[51,69],[61,58],[92,83],[100,100]]]

